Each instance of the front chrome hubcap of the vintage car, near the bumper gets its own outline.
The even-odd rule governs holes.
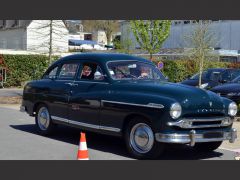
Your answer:
[[[130,133],[130,144],[139,153],[149,152],[154,144],[152,129],[145,123],[133,126]]]

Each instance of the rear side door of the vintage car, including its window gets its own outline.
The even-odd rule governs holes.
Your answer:
[[[49,88],[49,109],[54,120],[68,119],[68,103],[71,85],[77,74],[79,64],[66,62],[60,65],[58,75],[52,79]]]

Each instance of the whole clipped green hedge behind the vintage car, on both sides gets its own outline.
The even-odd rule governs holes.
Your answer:
[[[22,86],[24,82],[39,79],[49,66],[48,57],[44,55],[3,55],[8,66],[7,82],[5,87]],[[54,57],[58,59],[59,57]],[[159,60],[153,60],[157,63]],[[162,60],[164,67],[162,72],[172,82],[181,82],[198,72],[197,63],[194,60]],[[240,63],[226,63],[218,61],[205,61],[207,68],[240,68]]]

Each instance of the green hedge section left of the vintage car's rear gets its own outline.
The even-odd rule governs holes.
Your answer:
[[[26,81],[39,79],[49,66],[45,55],[3,55],[3,58],[8,68],[5,87],[19,87]]]

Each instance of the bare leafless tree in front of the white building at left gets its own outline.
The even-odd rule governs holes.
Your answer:
[[[32,25],[33,24],[33,25]],[[48,54],[49,63],[56,52],[68,47],[68,31],[62,20],[35,20],[29,27],[29,50]]]

